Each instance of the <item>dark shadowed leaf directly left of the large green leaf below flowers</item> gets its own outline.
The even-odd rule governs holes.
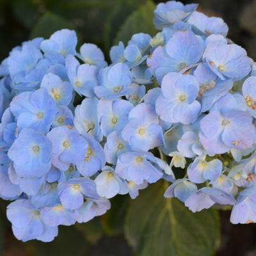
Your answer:
[[[129,195],[116,195],[111,199],[111,209],[101,217],[102,227],[109,236],[124,233],[124,216],[130,201]]]

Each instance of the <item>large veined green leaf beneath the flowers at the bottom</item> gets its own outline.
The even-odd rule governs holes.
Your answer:
[[[213,255],[220,218],[213,209],[193,213],[176,198],[164,198],[164,182],[152,184],[132,201],[125,237],[139,256]]]

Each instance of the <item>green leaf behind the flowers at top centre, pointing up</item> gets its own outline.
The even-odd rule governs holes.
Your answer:
[[[127,44],[131,36],[135,33],[148,33],[151,36],[156,35],[157,31],[153,24],[155,8],[156,4],[148,0],[138,10],[132,12],[118,31],[115,44],[118,44],[119,41]]]

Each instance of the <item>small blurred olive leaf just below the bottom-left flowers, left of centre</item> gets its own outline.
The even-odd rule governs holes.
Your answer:
[[[83,233],[84,238],[92,244],[96,244],[97,241],[103,235],[103,229],[100,224],[99,217],[94,218],[86,223],[76,223],[74,226],[77,230]]]

